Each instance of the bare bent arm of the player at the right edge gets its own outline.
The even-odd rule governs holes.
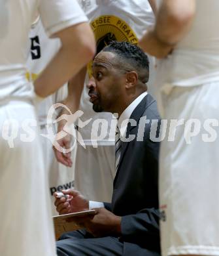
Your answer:
[[[195,15],[195,0],[163,0],[156,16],[155,28],[139,45],[149,54],[165,57],[190,29]]]

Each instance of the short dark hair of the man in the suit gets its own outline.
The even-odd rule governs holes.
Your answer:
[[[146,83],[149,79],[149,61],[148,56],[137,45],[128,42],[112,41],[103,52],[111,52],[120,59],[118,65],[120,69],[127,72],[135,70],[139,75],[139,80]]]

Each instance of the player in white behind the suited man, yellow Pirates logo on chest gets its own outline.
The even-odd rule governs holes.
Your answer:
[[[97,42],[97,52],[101,51],[112,40],[129,41],[137,44],[138,39],[147,28],[154,24],[154,14],[148,1],[85,0],[79,2],[90,20]],[[151,58],[150,62],[152,62]],[[152,66],[151,63],[150,67]],[[90,69],[88,68],[89,72]],[[152,94],[154,92],[153,73],[154,71],[150,70],[151,80],[148,83],[148,91]],[[72,91],[69,94],[67,106],[71,108],[73,113],[77,110],[75,102],[78,100],[78,94],[80,95],[80,91],[78,93],[75,91],[79,87],[75,88],[74,85],[80,83],[80,80],[83,81],[83,84],[84,79],[78,79],[78,77],[71,81]],[[92,121],[82,129],[78,127],[78,132],[84,139],[86,149],[78,144],[76,162],[73,163],[73,165],[75,164],[75,188],[82,191],[90,200],[110,202],[115,175],[114,133],[109,135],[108,130],[105,138],[97,140],[97,148],[93,148],[91,133],[92,129],[95,128],[97,119],[106,119],[109,123],[109,129],[112,114],[93,112],[86,83],[88,83],[88,75],[80,100],[80,110],[84,112],[80,119],[86,121],[92,117]],[[62,126],[59,126],[60,130]],[[61,143],[69,146],[69,141],[65,139]],[[68,164],[68,161],[71,161],[70,156],[64,156],[57,150],[56,156],[61,163]]]

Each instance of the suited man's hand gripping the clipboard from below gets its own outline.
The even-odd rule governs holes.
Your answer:
[[[77,218],[78,224],[88,232],[90,232],[95,238],[103,236],[120,236],[121,235],[121,217],[116,216],[105,208],[95,208],[96,215],[86,218]]]

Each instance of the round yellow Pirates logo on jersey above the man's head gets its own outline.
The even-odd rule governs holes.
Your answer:
[[[117,16],[103,15],[95,18],[90,23],[95,40],[97,42],[97,53],[105,46],[109,45],[110,41],[127,41],[137,45],[138,39],[135,32],[131,29],[126,21]],[[88,65],[89,75],[92,74],[92,62]]]

